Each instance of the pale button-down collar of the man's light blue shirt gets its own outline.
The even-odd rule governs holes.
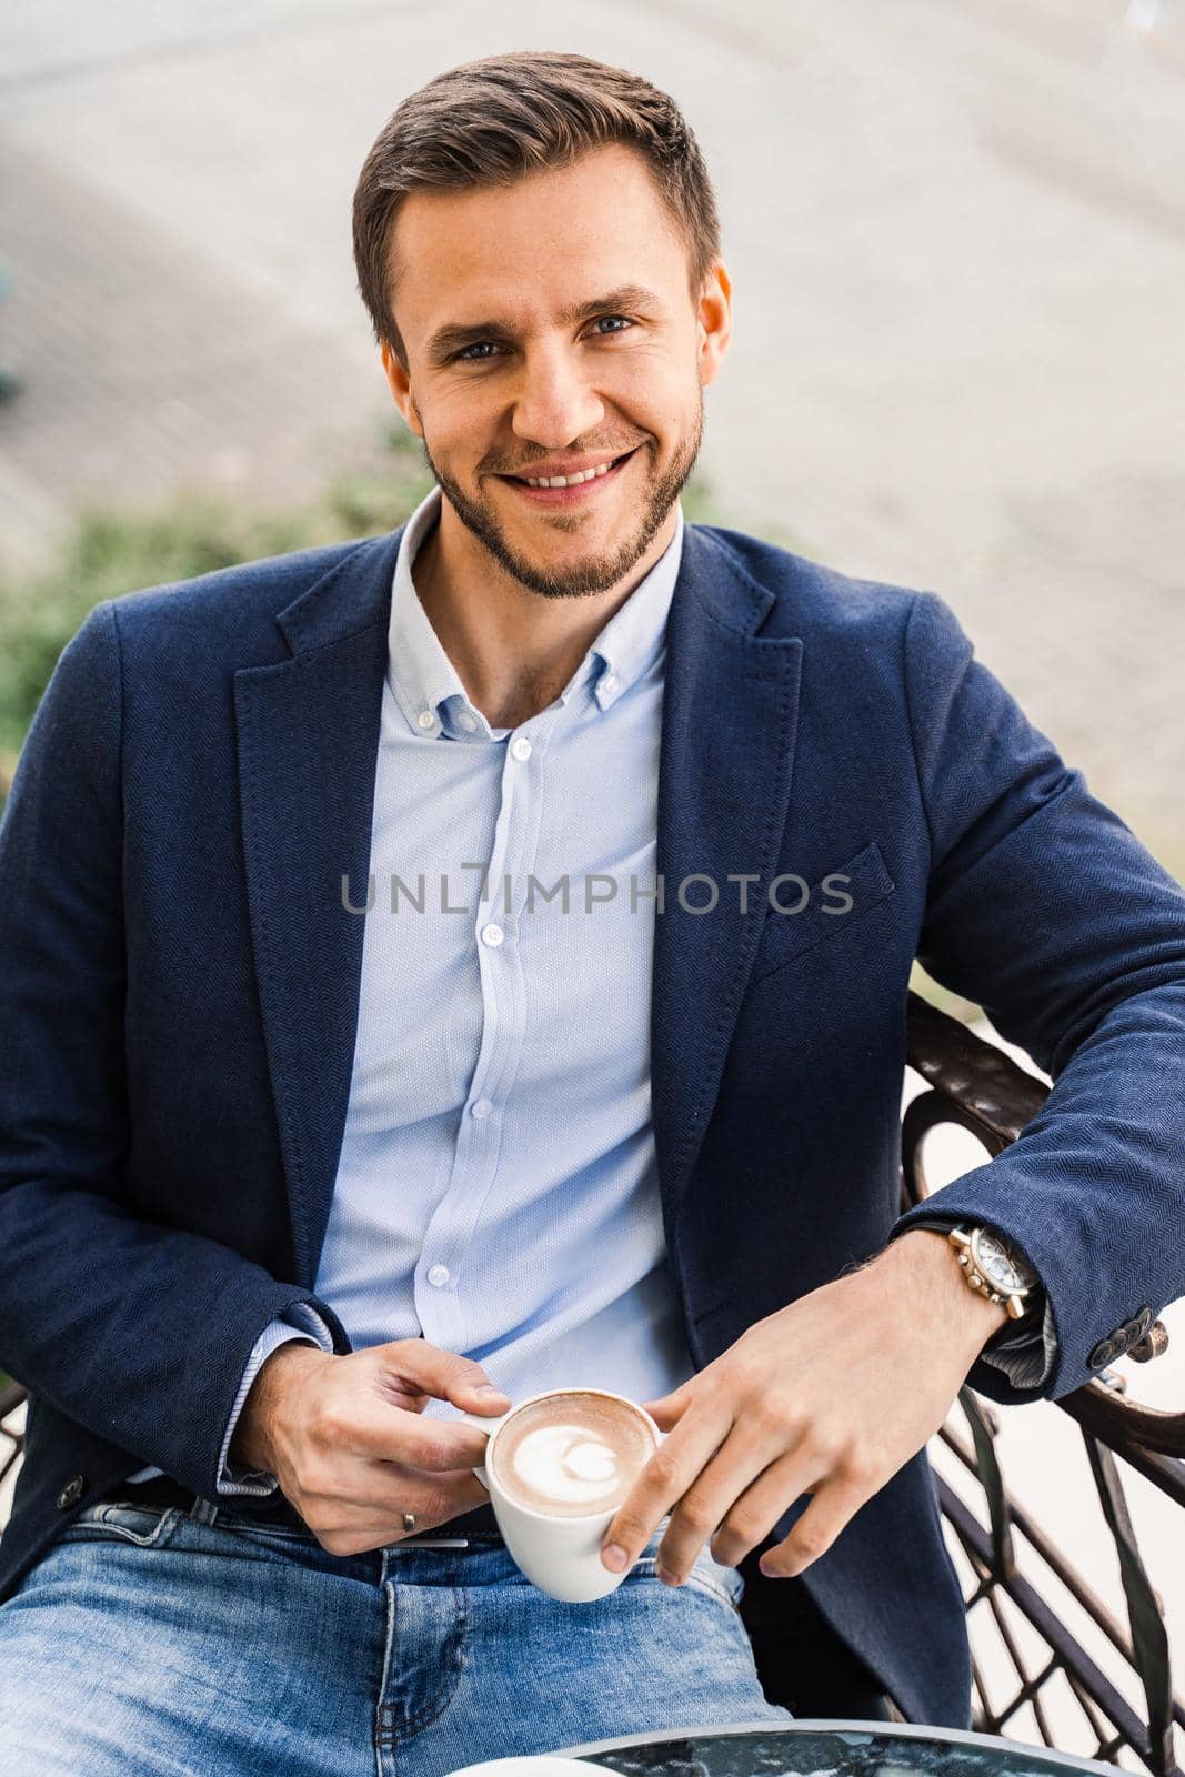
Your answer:
[[[425,739],[441,734],[449,739],[494,739],[510,730],[490,729],[481,711],[469,700],[412,579],[412,562],[439,522],[441,498],[441,489],[433,487],[416,506],[400,537],[387,629],[387,679],[414,734]],[[675,535],[670,546],[592,643],[561,693],[563,702],[585,679],[595,677],[593,697],[604,711],[659,654],[682,560],[682,506],[675,510]]]

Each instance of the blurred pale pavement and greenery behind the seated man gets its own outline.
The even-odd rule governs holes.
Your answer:
[[[1185,876],[1185,0],[9,0],[0,798],[96,599],[425,490],[350,197],[405,92],[510,48],[647,75],[707,155],[736,339],[689,515],[938,590]],[[1169,1322],[1133,1391],[1180,1409]],[[1075,1427],[1002,1418],[1117,1605]],[[1185,1669],[1180,1526],[1133,1494]]]

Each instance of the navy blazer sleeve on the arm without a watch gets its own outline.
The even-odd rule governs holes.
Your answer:
[[[34,716],[0,825],[0,1365],[206,1498],[252,1347],[323,1303],[124,1201],[121,654],[96,606]]]

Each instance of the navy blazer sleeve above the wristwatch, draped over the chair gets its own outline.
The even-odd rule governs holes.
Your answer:
[[[1057,1397],[1185,1294],[1185,890],[933,594],[910,608],[904,682],[929,833],[919,960],[1054,1088],[1016,1143],[892,1237],[940,1207],[1014,1240],[1046,1290],[1054,1363],[1018,1388],[981,1359],[970,1383],[1004,1402]]]

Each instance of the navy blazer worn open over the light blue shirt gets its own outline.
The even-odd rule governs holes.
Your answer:
[[[398,540],[107,601],[36,714],[0,828],[0,1363],[32,1395],[0,1599],[146,1464],[217,1498],[243,1365],[288,1304],[350,1349],[313,1288],[364,931],[341,878],[370,864]],[[652,1114],[696,1365],[910,1226],[915,956],[1055,1079],[942,1199],[1038,1267],[1059,1338],[1045,1391],[1185,1292],[1185,892],[940,599],[688,526],[657,867]],[[746,915],[739,873],[759,876]],[[707,915],[689,912],[702,883],[686,906],[673,892],[696,874],[720,885]],[[776,874],[815,885],[803,912],[769,908]],[[1032,1395],[982,1361],[972,1381]],[[803,1583],[906,1717],[966,1725],[924,1455]]]

